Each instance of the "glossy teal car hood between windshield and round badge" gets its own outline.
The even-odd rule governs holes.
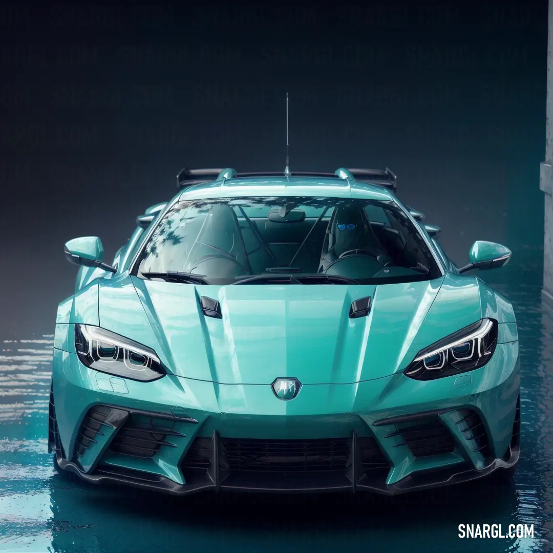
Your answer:
[[[456,280],[457,279],[457,280]],[[206,317],[201,296],[220,302]],[[352,301],[371,296],[367,317]],[[403,371],[420,349],[481,317],[476,280],[371,286],[211,286],[135,277],[100,286],[100,325],[152,347],[171,373],[221,384],[347,384]]]

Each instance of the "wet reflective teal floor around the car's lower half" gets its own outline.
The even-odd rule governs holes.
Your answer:
[[[544,550],[553,536],[553,311],[530,269],[498,270],[497,283],[486,278],[513,302],[519,325],[523,426],[514,485],[473,482],[397,498],[178,498],[74,482],[54,473],[46,452],[53,336],[0,341],[0,550]],[[534,539],[460,539],[460,524],[533,524]]]

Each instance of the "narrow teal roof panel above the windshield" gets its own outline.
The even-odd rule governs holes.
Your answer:
[[[256,176],[202,182],[182,190],[178,201],[251,196],[345,197],[396,201],[392,192],[382,185],[354,179],[311,176]]]

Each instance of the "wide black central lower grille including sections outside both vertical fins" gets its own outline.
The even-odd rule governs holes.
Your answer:
[[[257,440],[197,437],[181,465],[187,485],[307,491],[384,486],[390,463],[374,437]]]

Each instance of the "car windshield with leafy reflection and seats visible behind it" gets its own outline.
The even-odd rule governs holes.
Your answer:
[[[132,274],[190,284],[386,284],[441,275],[393,201],[185,200],[161,217]]]

